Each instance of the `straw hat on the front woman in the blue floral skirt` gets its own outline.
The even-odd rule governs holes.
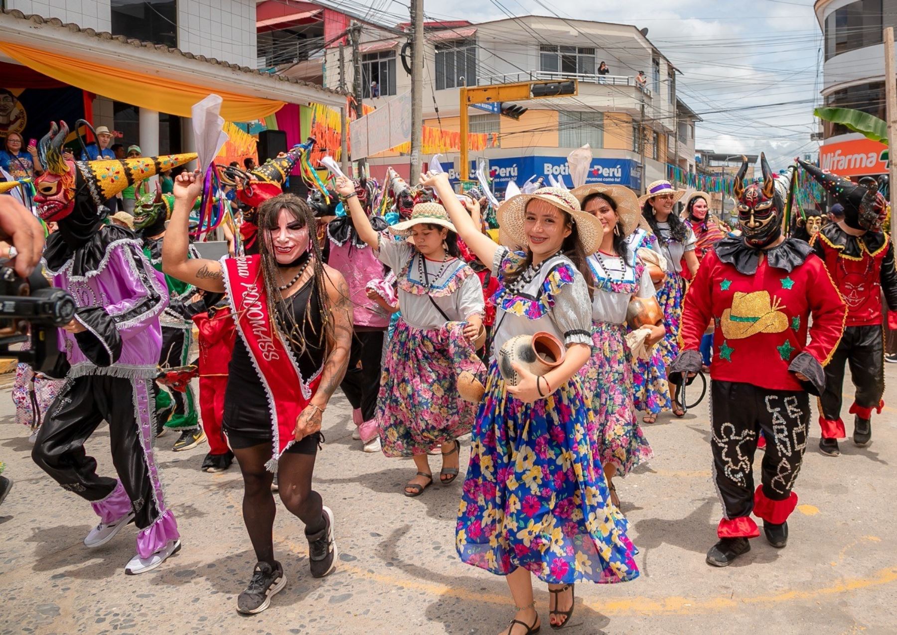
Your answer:
[[[527,204],[532,200],[540,200],[552,204],[562,212],[570,214],[579,244],[587,256],[594,254],[601,247],[601,239],[605,229],[593,215],[579,208],[579,199],[562,187],[540,187],[532,194],[511,196],[499,206],[496,217],[499,222],[499,242],[509,248],[527,246],[527,234],[523,230],[524,213]]]

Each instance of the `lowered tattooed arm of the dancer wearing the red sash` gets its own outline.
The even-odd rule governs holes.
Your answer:
[[[327,285],[328,314],[333,320],[333,335],[327,338],[327,359],[318,390],[311,397],[309,405],[299,415],[296,422],[296,440],[314,434],[321,429],[323,413],[330,397],[343,381],[345,370],[349,366],[349,349],[352,346],[352,300],[349,298],[349,285],[343,274],[324,265]]]

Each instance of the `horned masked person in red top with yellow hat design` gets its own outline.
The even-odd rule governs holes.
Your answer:
[[[685,295],[682,352],[671,369],[701,370],[701,336],[714,320],[711,448],[723,518],[720,542],[708,552],[708,562],[716,566],[749,551],[746,538],[760,535],[752,511],[763,519],[770,543],[785,546],[786,520],[797,506],[792,489],[806,448],[807,393],[823,392],[823,366],[838,345],[846,312],[823,262],[806,242],[776,244],[783,205],[765,157],[761,161],[768,187],[741,187],[745,161],[736,177],[742,236],[720,240],[704,257]],[[768,443],[762,484],[754,491],[759,431]]]

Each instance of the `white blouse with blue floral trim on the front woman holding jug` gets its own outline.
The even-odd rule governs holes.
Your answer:
[[[523,254],[506,247],[495,250],[492,274],[498,276],[495,293],[495,330],[492,354],[515,335],[534,335],[547,331],[564,344],[592,344],[592,310],[586,279],[570,258],[555,255],[545,260],[532,277],[518,278],[516,289],[509,289],[504,276],[516,269]]]

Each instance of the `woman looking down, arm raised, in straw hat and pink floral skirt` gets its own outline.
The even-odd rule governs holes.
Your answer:
[[[471,344],[483,325],[483,291],[458,257],[455,228],[442,205],[415,204],[409,220],[378,232],[352,181],[337,178],[336,191],[358,235],[398,281],[402,315],[389,339],[377,424],[383,454],[414,457],[417,474],[405,484],[405,496],[419,496],[433,482],[427,453],[441,448],[440,482],[452,483],[461,448],[457,438],[474,424],[476,405],[458,395],[456,382],[463,370],[484,374]]]

